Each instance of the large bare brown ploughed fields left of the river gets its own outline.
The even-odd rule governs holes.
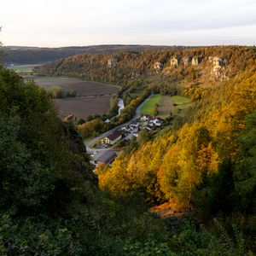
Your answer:
[[[107,113],[110,108],[110,98],[119,90],[118,86],[64,77],[26,76],[25,80],[34,80],[45,90],[60,88],[76,90],[78,97],[54,100],[61,117],[74,114],[85,119],[90,114]]]

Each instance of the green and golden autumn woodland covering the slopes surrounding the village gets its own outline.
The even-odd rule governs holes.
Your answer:
[[[150,91],[191,98],[182,120],[133,141],[96,173],[81,135],[101,121],[85,120],[78,131],[58,117],[48,92],[0,67],[0,253],[254,255],[255,53],[238,46],[121,52],[110,63],[110,55],[82,54],[39,67],[123,84],[119,96],[131,115]],[[205,61],[170,61],[195,55]],[[222,76],[212,73],[212,56],[228,61]],[[182,217],[149,211],[166,202]]]

